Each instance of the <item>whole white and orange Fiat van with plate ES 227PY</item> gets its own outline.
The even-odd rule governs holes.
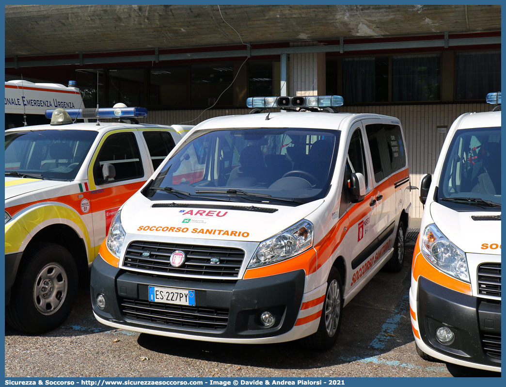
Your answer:
[[[329,348],[343,306],[402,267],[410,209],[401,123],[342,103],[255,97],[256,113],[193,128],[111,223],[92,265],[98,321]]]

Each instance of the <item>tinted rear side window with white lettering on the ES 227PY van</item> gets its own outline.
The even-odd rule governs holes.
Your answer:
[[[406,166],[406,151],[399,125],[370,124],[365,126],[365,131],[376,183]]]

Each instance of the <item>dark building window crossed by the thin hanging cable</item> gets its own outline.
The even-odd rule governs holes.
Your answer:
[[[192,107],[232,106],[233,63],[200,63],[190,67]],[[228,88],[228,89],[227,89]]]

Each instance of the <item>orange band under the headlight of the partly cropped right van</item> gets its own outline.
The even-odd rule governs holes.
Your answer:
[[[419,237],[418,237],[419,239]],[[436,267],[427,261],[423,255],[421,255],[418,247],[418,241],[413,252],[413,266],[412,275],[415,281],[418,281],[418,277],[427,278],[438,285],[444,286],[448,289],[455,290],[459,293],[472,295],[471,284],[457,280],[456,278],[450,277],[449,275],[441,272]]]

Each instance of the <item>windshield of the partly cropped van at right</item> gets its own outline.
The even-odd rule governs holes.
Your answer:
[[[500,128],[456,132],[439,181],[438,202],[457,211],[500,211]]]

